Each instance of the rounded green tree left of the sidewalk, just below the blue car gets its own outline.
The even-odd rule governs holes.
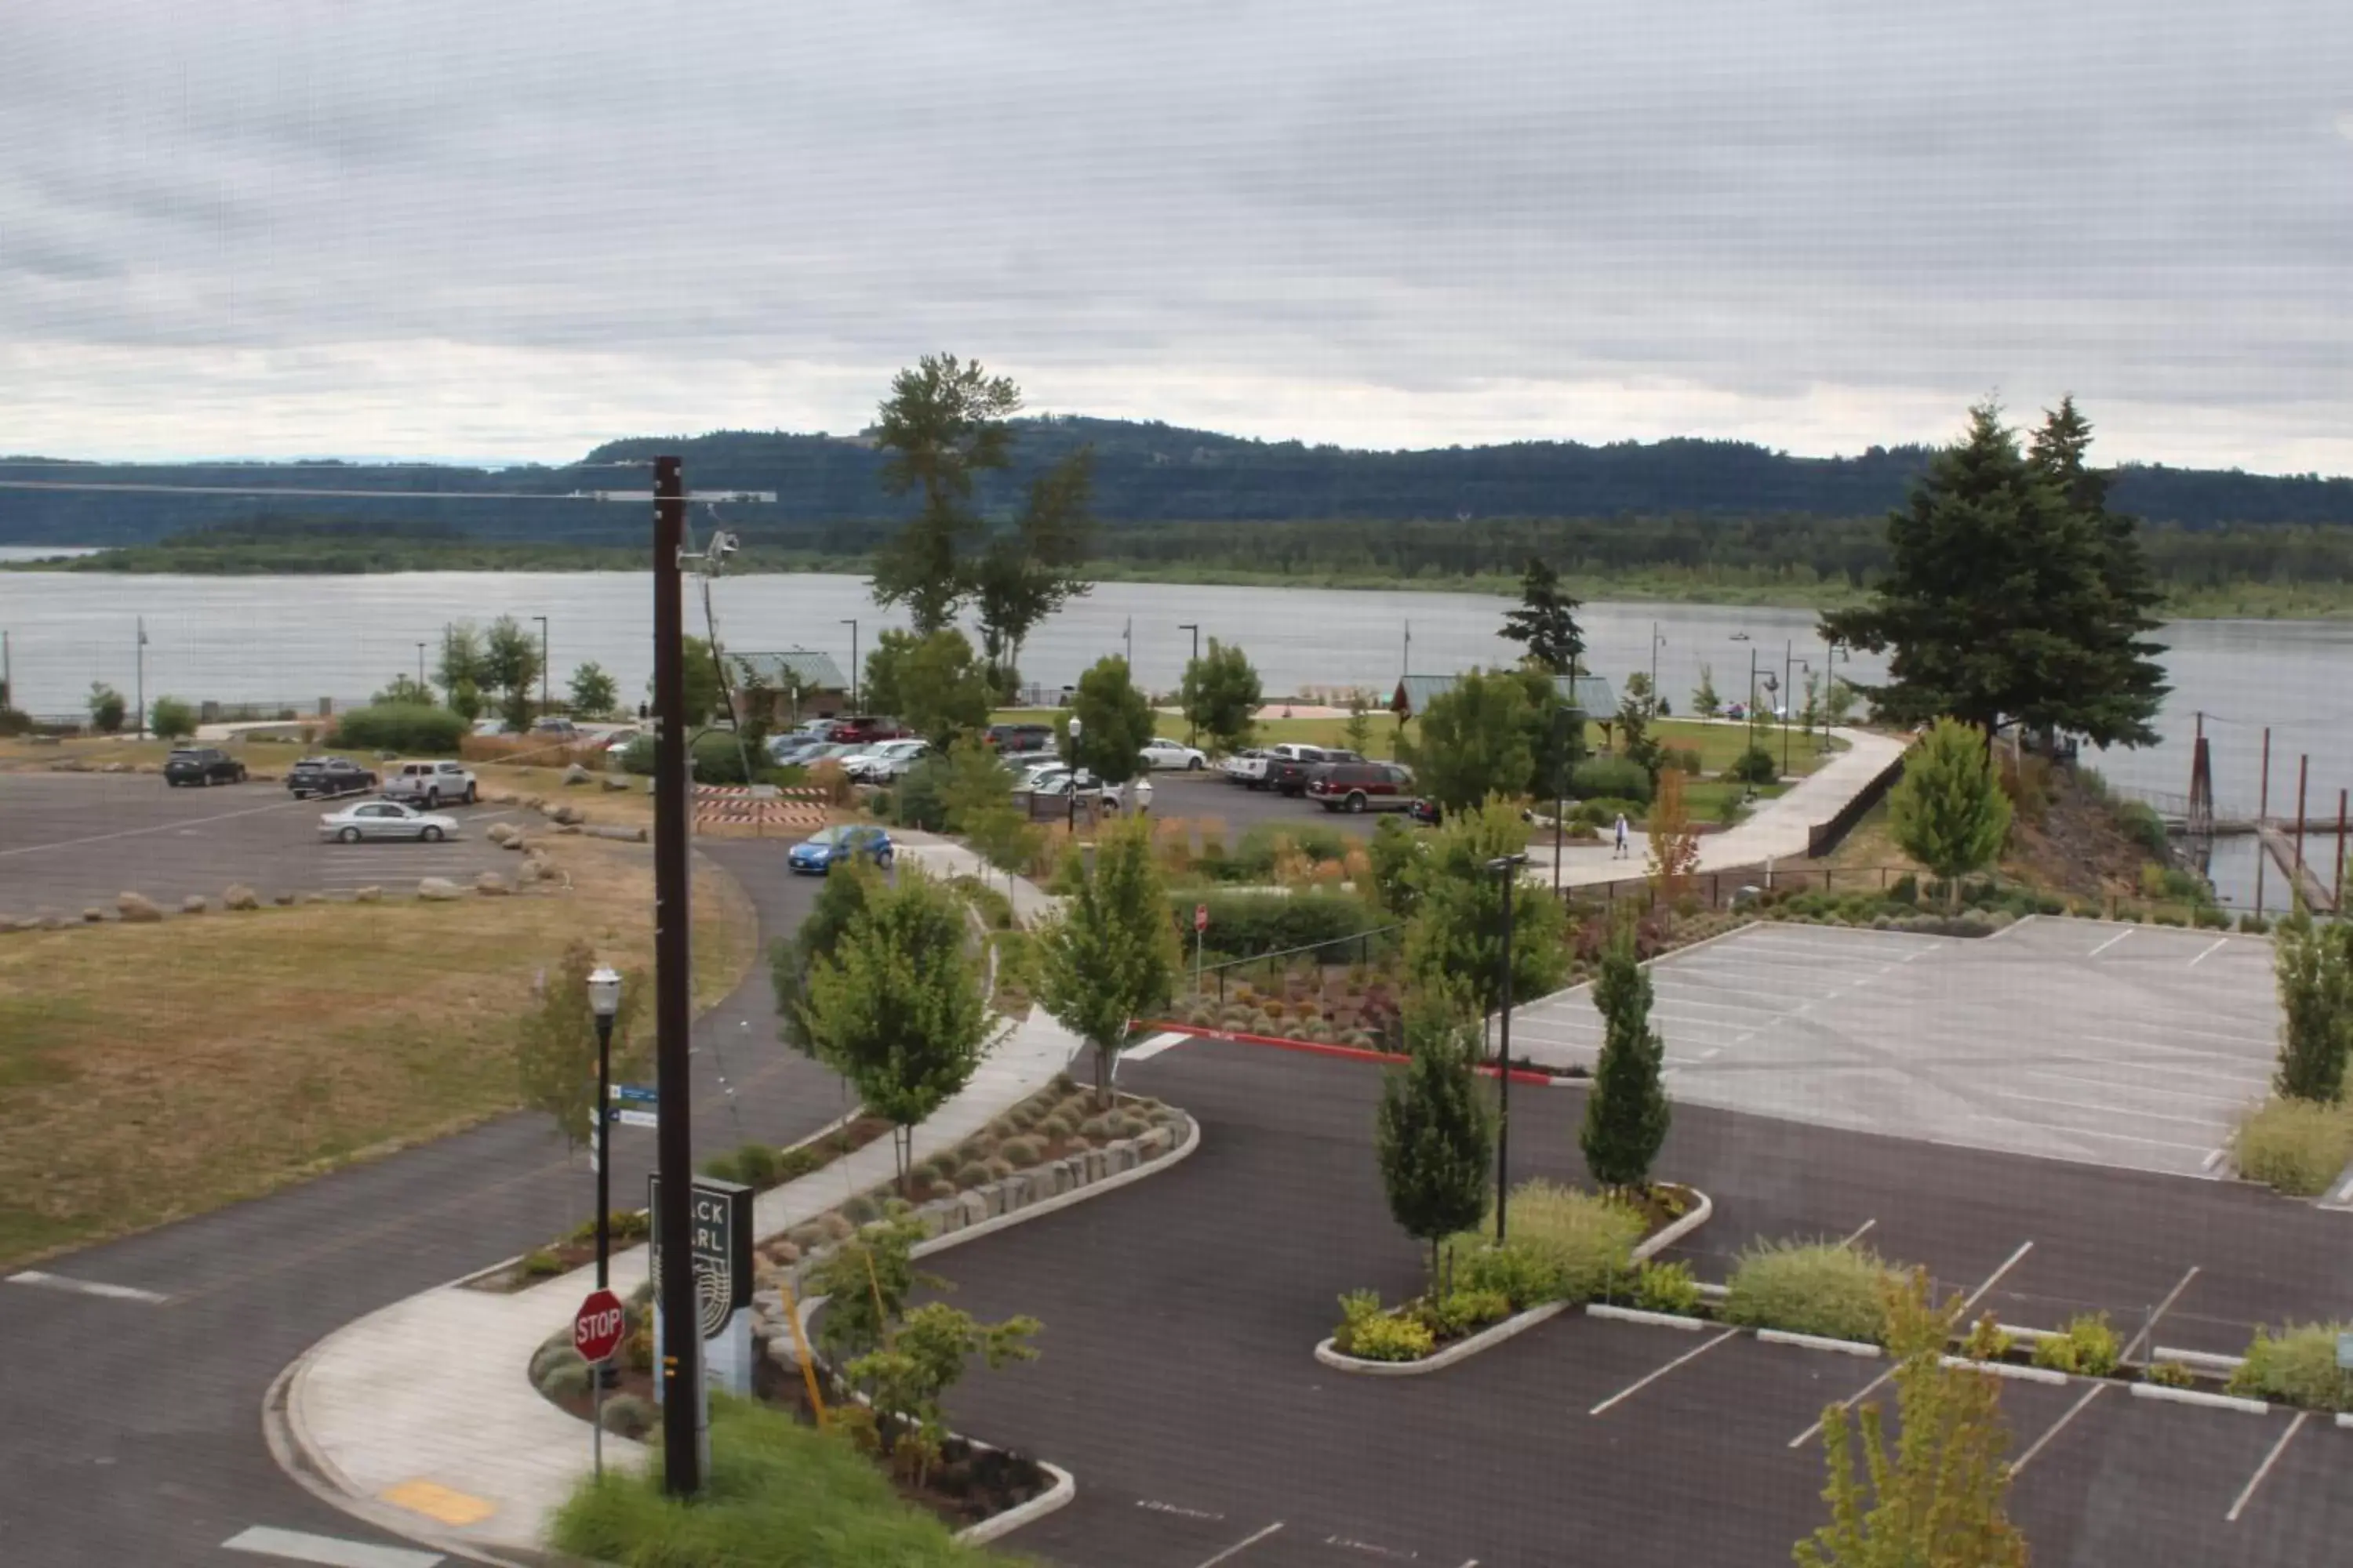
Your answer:
[[[915,1128],[981,1065],[988,1004],[965,947],[962,900],[918,867],[866,891],[831,950],[812,954],[802,1018],[816,1058],[892,1124],[899,1180]]]

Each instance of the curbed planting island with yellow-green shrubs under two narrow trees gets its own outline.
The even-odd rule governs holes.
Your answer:
[[[1555,1182],[1522,1182],[1504,1206],[1504,1241],[1485,1232],[1440,1248],[1442,1291],[1381,1307],[1372,1291],[1341,1298],[1341,1324],[1315,1359],[1344,1373],[1435,1373],[1591,1300],[1678,1312],[1699,1300],[1687,1265],[1657,1262],[1708,1222],[1692,1187],[1657,1185],[1645,1206]]]

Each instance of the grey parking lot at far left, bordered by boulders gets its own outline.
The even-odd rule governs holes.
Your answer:
[[[482,839],[511,816],[496,806],[445,806],[464,837],[442,844],[322,844],[320,813],[358,799],[294,799],[278,783],[172,790],[148,773],[0,773],[0,917],[111,912],[125,891],[165,907],[191,893],[219,905],[231,882],[271,898],[501,867]]]

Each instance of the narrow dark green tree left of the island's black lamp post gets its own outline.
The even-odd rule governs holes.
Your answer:
[[[1419,1006],[1407,1020],[1409,1060],[1381,1077],[1372,1138],[1381,1190],[1398,1227],[1431,1248],[1471,1229],[1487,1211],[1494,1112],[1478,1091],[1478,1027],[1447,1006]]]

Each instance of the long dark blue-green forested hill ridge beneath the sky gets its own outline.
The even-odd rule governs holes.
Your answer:
[[[1257,442],[1207,430],[1108,418],[1026,418],[1016,465],[988,475],[981,505],[1007,515],[1028,480],[1080,444],[1094,447],[1096,515],[1122,522],[1426,520],[1457,517],[1875,517],[1899,505],[1925,447],[1873,447],[1852,458],[1798,458],[1748,442],[1513,442],[1428,451],[1348,451]],[[722,430],[701,437],[633,437],[586,454],[584,465],[452,468],[431,463],[169,463],[26,468],[0,477],[96,484],[216,484],[292,491],[304,487],[398,489],[398,501],[308,501],[285,510],[346,517],[431,517],[485,538],[624,538],[626,508],[546,501],[428,501],[435,491],[548,496],[635,489],[628,463],[659,451],[687,458],[696,489],[774,489],[767,524],[854,524],[904,515],[880,487],[882,454],[859,437]],[[2266,477],[2235,470],[2127,468],[2118,505],[2151,522],[2353,524],[2353,480]],[[252,517],[245,496],[0,489],[0,543],[136,543]],[[758,524],[755,524],[758,527]]]

